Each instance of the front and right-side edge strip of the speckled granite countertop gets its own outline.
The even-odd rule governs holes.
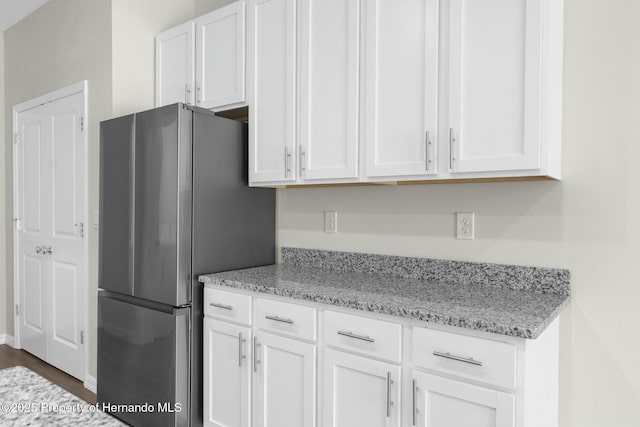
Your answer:
[[[332,297],[327,294],[318,294],[311,291],[297,291],[289,288],[278,288],[274,286],[260,285],[247,281],[237,281],[214,277],[212,275],[202,275],[199,280],[204,284],[218,285],[223,287],[241,289],[246,291],[257,292],[266,295],[276,295],[288,297],[297,300],[316,302],[336,307],[345,307],[364,312],[380,313],[391,315],[399,318],[407,318],[412,320],[424,321],[427,323],[435,323],[440,325],[461,327],[464,329],[479,330],[483,332],[494,333],[498,335],[512,336],[518,338],[535,339],[537,338],[553,320],[559,316],[560,312],[570,302],[567,296],[548,316],[542,321],[537,322],[533,326],[525,326],[522,324],[511,323],[504,324],[500,322],[491,322],[487,320],[478,320],[470,317],[450,315],[447,313],[438,313],[431,310],[415,309],[405,310],[402,307],[384,304],[372,304],[368,302],[358,301],[355,298]]]

